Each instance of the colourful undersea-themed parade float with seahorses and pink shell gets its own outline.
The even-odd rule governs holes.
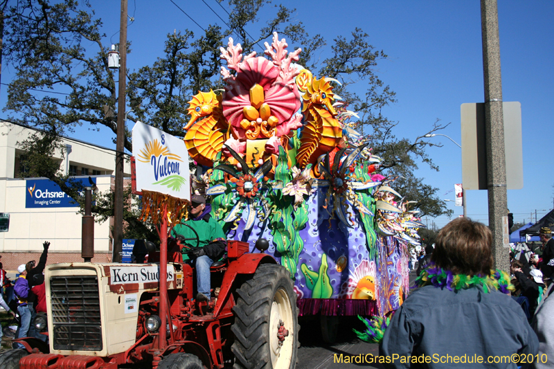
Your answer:
[[[296,64],[285,39],[267,57],[221,48],[224,90],[189,102],[184,142],[197,164],[193,190],[212,204],[229,240],[253,245],[294,280],[299,314],[379,315],[409,292],[408,246],[417,210],[376,174],[381,159],[352,129],[355,113],[332,78]]]

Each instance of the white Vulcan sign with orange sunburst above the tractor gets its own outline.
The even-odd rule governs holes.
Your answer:
[[[136,122],[133,127],[136,190],[190,197],[188,151],[183,140]]]

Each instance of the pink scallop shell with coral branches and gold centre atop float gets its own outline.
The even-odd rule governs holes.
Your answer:
[[[301,104],[300,93],[294,84],[298,71],[290,65],[298,60],[301,49],[287,57],[287,44],[284,40],[279,42],[277,34],[274,34],[272,45],[276,51],[267,45],[266,53],[273,60],[256,57],[256,53],[243,59],[242,48],[233,45],[232,39],[229,39],[226,50],[221,49],[222,59],[236,72],[233,77],[222,68],[222,75],[228,83],[222,108],[231,125],[231,134],[238,141],[283,136],[302,125],[301,116],[294,115]]]

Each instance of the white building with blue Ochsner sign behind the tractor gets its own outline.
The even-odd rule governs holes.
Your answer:
[[[78,206],[48,179],[20,178],[24,172],[20,159],[25,152],[18,143],[33,133],[27,127],[0,123],[0,221],[5,224],[9,215],[8,231],[0,222],[0,253],[6,270],[15,270],[29,260],[38,261],[46,240],[51,242],[48,264],[82,261],[82,215]],[[84,183],[92,177],[101,192],[114,186],[115,150],[73,138],[63,138],[63,142],[64,155],[55,154],[60,170]],[[130,172],[126,160],[124,177],[130,177]],[[111,261],[108,221],[94,226],[94,252],[93,261]]]

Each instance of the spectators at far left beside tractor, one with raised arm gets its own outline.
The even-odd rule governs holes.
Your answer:
[[[12,314],[18,322],[15,338],[35,337],[46,342],[48,336],[39,332],[35,325],[35,317],[39,312],[46,312],[46,290],[44,285],[44,267],[48,258],[50,242],[45,241],[38,264],[30,260],[17,267],[18,276],[12,282],[3,270],[0,262],[0,306]],[[0,256],[1,258],[1,256]],[[0,330],[0,337],[3,335]],[[14,343],[14,348],[24,348],[21,343]]]

